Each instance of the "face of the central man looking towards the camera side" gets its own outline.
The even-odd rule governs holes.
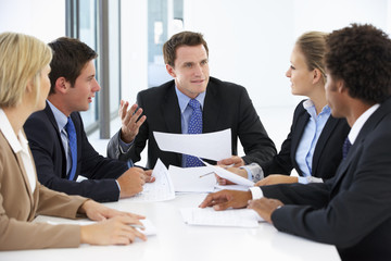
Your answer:
[[[184,95],[195,98],[206,90],[210,71],[203,45],[179,47],[176,50],[174,67],[167,64],[166,69]]]

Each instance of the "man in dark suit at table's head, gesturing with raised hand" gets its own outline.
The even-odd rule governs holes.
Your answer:
[[[244,148],[241,164],[272,159],[276,153],[275,146],[245,88],[210,77],[209,49],[201,34],[181,32],[174,35],[165,42],[163,54],[166,70],[174,80],[138,94],[137,104],[147,120],[136,137],[127,135],[128,121],[124,120],[126,116],[130,119],[136,107],[127,113],[124,112],[126,108],[121,108],[123,126],[109,142],[109,157],[137,162],[148,140],[147,167],[153,167],[159,158],[166,165],[189,166],[186,163],[188,156],[160,150],[153,132],[188,134],[192,115],[188,104],[197,100],[202,110],[202,133],[231,128],[231,153],[237,154],[238,137]]]

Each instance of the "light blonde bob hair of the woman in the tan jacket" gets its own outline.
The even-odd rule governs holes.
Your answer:
[[[51,59],[50,47],[33,36],[0,34],[0,107],[18,105],[29,82],[38,101],[40,74]]]

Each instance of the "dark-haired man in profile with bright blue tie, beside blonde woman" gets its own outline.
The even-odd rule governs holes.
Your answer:
[[[39,182],[51,189],[101,202],[117,201],[140,192],[144,181],[150,179],[150,173],[100,156],[84,130],[78,111],[88,110],[94,94],[100,90],[94,78],[97,53],[84,42],[66,37],[49,46],[53,50],[53,60],[47,107],[31,114],[24,125]],[[66,129],[70,119],[76,130],[75,160],[68,142],[71,134]],[[80,175],[88,179],[76,182]]]

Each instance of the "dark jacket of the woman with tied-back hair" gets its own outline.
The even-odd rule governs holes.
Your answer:
[[[310,120],[310,114],[303,107],[304,101],[301,101],[294,110],[291,130],[282,142],[280,152],[272,161],[261,164],[265,176],[269,174],[290,175],[293,167],[300,176],[303,176],[295,157]],[[313,176],[327,179],[336,174],[342,159],[342,145],[349,132],[350,127],[345,119],[335,119],[330,115],[315,147],[312,162]]]

